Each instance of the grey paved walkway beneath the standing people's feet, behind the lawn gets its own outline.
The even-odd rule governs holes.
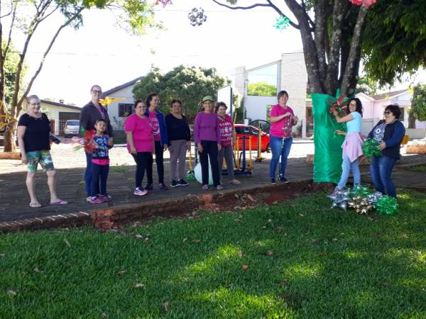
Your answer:
[[[401,169],[403,166],[413,166],[426,164],[425,155],[405,156],[398,163],[398,167],[393,172],[393,181],[397,187],[414,188],[426,191],[426,172],[409,171]],[[154,164],[154,181],[156,179]],[[37,174],[37,195],[41,208],[29,208],[28,194],[25,186],[26,172],[15,172],[0,174],[0,222],[23,220],[27,218],[54,216],[63,213],[90,213],[94,210],[109,208],[114,206],[124,206],[127,204],[146,203],[148,201],[158,201],[163,199],[183,198],[189,194],[204,194],[215,192],[214,189],[202,191],[197,181],[190,181],[189,186],[170,188],[168,191],[158,190],[158,186],[150,191],[146,196],[133,196],[134,172],[136,166],[112,166],[108,178],[108,192],[113,201],[110,203],[91,204],[85,201],[83,173],[84,168],[58,169],[58,196],[69,202],[68,205],[50,205],[48,186],[45,174]],[[166,181],[169,176],[168,159],[165,160]],[[224,186],[227,189],[239,189],[246,187],[262,186],[269,183],[268,177],[269,159],[261,163],[255,163],[251,176],[241,176],[241,185],[227,184],[227,177],[222,177]],[[306,162],[306,157],[288,159],[288,174],[290,181],[305,181],[312,179],[312,164]],[[361,165],[363,184],[370,184],[368,165]]]

